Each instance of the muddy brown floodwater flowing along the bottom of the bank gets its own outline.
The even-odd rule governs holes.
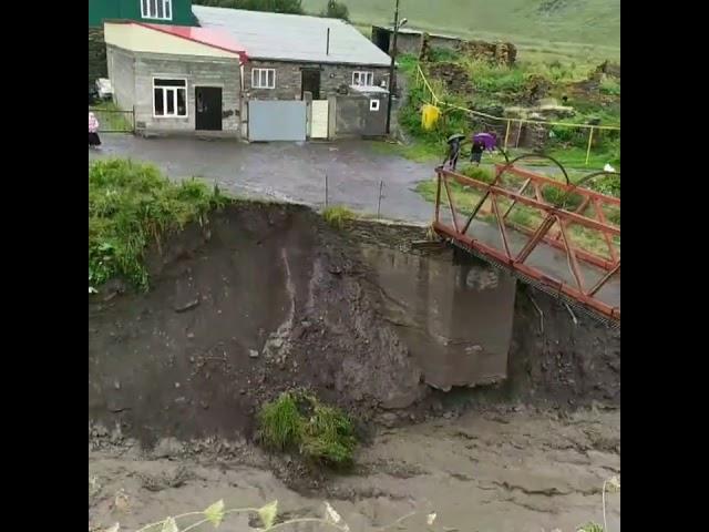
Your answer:
[[[619,410],[559,418],[516,408],[384,430],[361,451],[356,473],[308,494],[288,489],[267,470],[268,457],[245,442],[167,440],[143,453],[114,433],[90,443],[89,525],[121,522],[121,530],[134,530],[219,499],[227,508],[278,499],[291,518],[321,515],[328,500],[352,532],[410,512],[418,513],[398,530],[429,531],[424,516],[433,511],[439,530],[573,532],[603,522],[604,480],[620,473],[619,418]],[[608,530],[615,532],[620,495],[607,495],[607,507]],[[222,530],[251,529],[237,516]]]

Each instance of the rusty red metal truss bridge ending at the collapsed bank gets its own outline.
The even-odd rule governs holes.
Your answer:
[[[436,168],[434,231],[619,321],[620,198],[584,186],[613,173],[571,183],[563,168],[556,181],[517,161],[496,165],[492,182]]]

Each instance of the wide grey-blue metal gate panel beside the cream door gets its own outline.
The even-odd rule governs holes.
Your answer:
[[[306,102],[250,100],[248,102],[248,140],[305,141]]]

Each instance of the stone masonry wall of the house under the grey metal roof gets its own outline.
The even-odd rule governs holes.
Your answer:
[[[282,61],[251,60],[244,66],[244,98],[247,100],[300,100],[300,71],[304,68],[320,69],[320,99],[337,94],[341,85],[352,84],[353,72],[373,72],[374,84],[382,81],[389,85],[389,69],[386,66],[359,66],[342,64],[291,63]],[[253,69],[275,69],[275,89],[253,89]]]

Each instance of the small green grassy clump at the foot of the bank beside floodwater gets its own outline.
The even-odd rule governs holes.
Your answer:
[[[352,463],[357,438],[342,410],[328,407],[305,392],[284,392],[263,406],[259,439],[271,450],[297,451],[326,466]]]

